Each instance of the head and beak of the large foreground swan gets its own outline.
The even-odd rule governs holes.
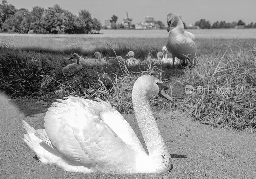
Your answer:
[[[138,93],[144,93],[148,95],[159,95],[160,97],[167,99],[168,101],[173,101],[172,98],[167,93],[168,87],[158,78],[152,77],[150,75],[142,75],[139,77],[133,86],[132,91],[137,91]]]

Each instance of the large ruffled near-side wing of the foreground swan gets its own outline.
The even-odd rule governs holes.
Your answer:
[[[108,105],[67,97],[53,103],[44,118],[52,145],[69,160],[87,168],[134,160],[131,149],[100,117]]]

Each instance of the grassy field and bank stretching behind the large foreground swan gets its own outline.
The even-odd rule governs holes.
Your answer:
[[[188,111],[193,120],[214,127],[255,131],[256,39],[252,38],[256,37],[255,29],[191,30],[198,37],[198,65],[193,69],[146,66],[125,70],[116,65],[87,67],[76,75],[63,75],[61,69],[70,63],[68,58],[72,53],[85,58],[92,57],[95,51],[102,56],[115,56],[105,44],[108,43],[117,55],[124,57],[133,50],[136,58],[144,60],[155,58],[168,37],[164,30],[102,32],[95,36],[0,34],[0,90],[13,97],[44,101],[67,95],[100,97],[120,112],[132,113],[132,85],[142,74],[154,75],[173,88],[180,88],[172,90],[180,96],[184,95],[187,84],[243,86],[243,93],[193,93],[172,104],[156,100],[157,97],[151,99],[155,110],[180,108]]]

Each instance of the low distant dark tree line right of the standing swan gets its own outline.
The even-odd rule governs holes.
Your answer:
[[[200,19],[200,21],[197,21],[195,23],[195,26],[199,26],[201,29],[219,29],[219,28],[234,28],[235,26],[244,26],[245,28],[256,28],[256,22],[253,24],[251,22],[248,25],[245,25],[245,23],[242,20],[239,20],[238,22],[226,22],[226,21],[216,21],[212,24],[209,21],[206,21],[205,19]]]

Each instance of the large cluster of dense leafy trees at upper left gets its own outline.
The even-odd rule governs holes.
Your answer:
[[[33,7],[16,9],[6,0],[0,4],[0,31],[35,34],[93,34],[99,33],[100,21],[89,11],[81,10],[78,16],[61,9],[58,4],[44,9]]]

